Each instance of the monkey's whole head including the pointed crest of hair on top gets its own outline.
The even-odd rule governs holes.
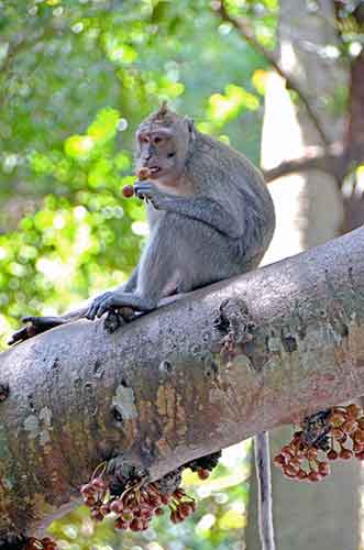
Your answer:
[[[192,121],[179,117],[164,103],[145,119],[136,131],[135,167],[147,167],[151,179],[167,186],[177,185],[194,139]]]

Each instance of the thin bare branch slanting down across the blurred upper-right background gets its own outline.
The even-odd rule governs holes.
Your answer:
[[[296,91],[296,94],[298,94],[301,102],[304,103],[304,106],[307,110],[307,113],[309,114],[309,117],[310,117],[310,119],[311,119],[321,141],[322,141],[322,143],[324,145],[329,145],[330,140],[326,135],[326,132],[324,132],[323,127],[320,122],[320,119],[319,119],[318,114],[316,113],[316,111],[313,110],[313,108],[311,107],[309,98],[307,97],[305,90],[301,88],[301,86],[298,84],[298,81],[284,70],[284,68],[280,66],[277,57],[274,55],[274,53],[271,52],[269,50],[266,50],[260,43],[260,41],[256,38],[256,36],[252,30],[251,24],[249,23],[249,21],[246,19],[233,18],[232,15],[230,15],[224,0],[220,0],[219,2],[216,2],[216,4],[219,7],[216,8],[214,11],[221,16],[221,19],[223,21],[227,21],[228,23],[231,23],[232,26],[234,26],[239,31],[241,36],[249,44],[251,44],[251,46],[253,46],[253,48],[256,52],[258,52],[273,66],[273,68],[278,73],[278,75],[280,75],[286,80],[287,87],[289,89]]]

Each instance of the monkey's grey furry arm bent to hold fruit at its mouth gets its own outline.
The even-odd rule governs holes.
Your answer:
[[[239,219],[230,215],[216,200],[203,197],[180,197],[161,191],[150,182],[137,182],[134,190],[140,198],[146,198],[157,210],[180,213],[187,218],[202,221],[220,233],[239,239],[244,233],[244,216]]]

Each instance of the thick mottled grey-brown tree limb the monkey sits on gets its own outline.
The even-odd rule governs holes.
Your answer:
[[[77,504],[103,460],[152,479],[364,394],[364,228],[108,334],[78,321],[0,355],[0,538]]]

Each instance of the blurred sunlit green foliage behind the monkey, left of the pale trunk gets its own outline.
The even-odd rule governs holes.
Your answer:
[[[271,48],[277,2],[231,2]],[[147,234],[133,134],[162,100],[258,163],[265,61],[213,2],[0,1],[0,349],[23,315],[59,314],[120,284]],[[146,534],[95,528],[86,509],[51,531],[65,550],[241,548],[249,446],[211,480],[186,476],[198,512]]]

